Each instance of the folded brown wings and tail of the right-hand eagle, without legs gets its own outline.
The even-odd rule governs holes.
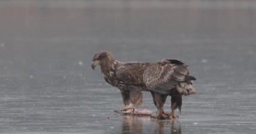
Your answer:
[[[143,73],[146,86],[160,94],[170,94],[176,89],[181,94],[189,94],[193,76],[189,76],[187,65],[179,60],[162,60],[149,66]],[[192,92],[191,92],[192,93]]]

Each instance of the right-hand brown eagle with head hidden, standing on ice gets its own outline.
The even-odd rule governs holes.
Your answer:
[[[160,62],[150,64],[143,72],[143,81],[152,93],[154,104],[158,109],[157,115],[153,118],[175,118],[174,110],[179,108],[181,111],[182,95],[195,93],[189,76],[187,65],[179,60],[163,59]],[[164,114],[162,109],[166,97],[170,95],[172,113]]]

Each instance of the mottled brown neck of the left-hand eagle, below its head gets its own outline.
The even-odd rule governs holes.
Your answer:
[[[114,60],[114,58],[112,57],[108,57],[106,58],[106,60],[102,61],[102,64],[100,64],[100,68],[104,76],[113,76],[118,63],[119,62],[117,60]]]

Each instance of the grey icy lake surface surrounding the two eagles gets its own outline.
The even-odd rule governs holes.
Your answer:
[[[256,1],[11,0],[0,18],[0,133],[256,131]],[[180,119],[117,115],[119,90],[90,67],[97,50],[183,60],[197,94]]]

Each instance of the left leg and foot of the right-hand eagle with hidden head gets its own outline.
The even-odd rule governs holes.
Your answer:
[[[168,116],[164,115],[163,113],[163,107],[164,103],[166,101],[167,95],[159,94],[158,92],[151,92],[154,100],[154,104],[156,105],[156,108],[158,109],[158,112],[156,115],[151,115],[151,118],[153,119],[167,119]]]

